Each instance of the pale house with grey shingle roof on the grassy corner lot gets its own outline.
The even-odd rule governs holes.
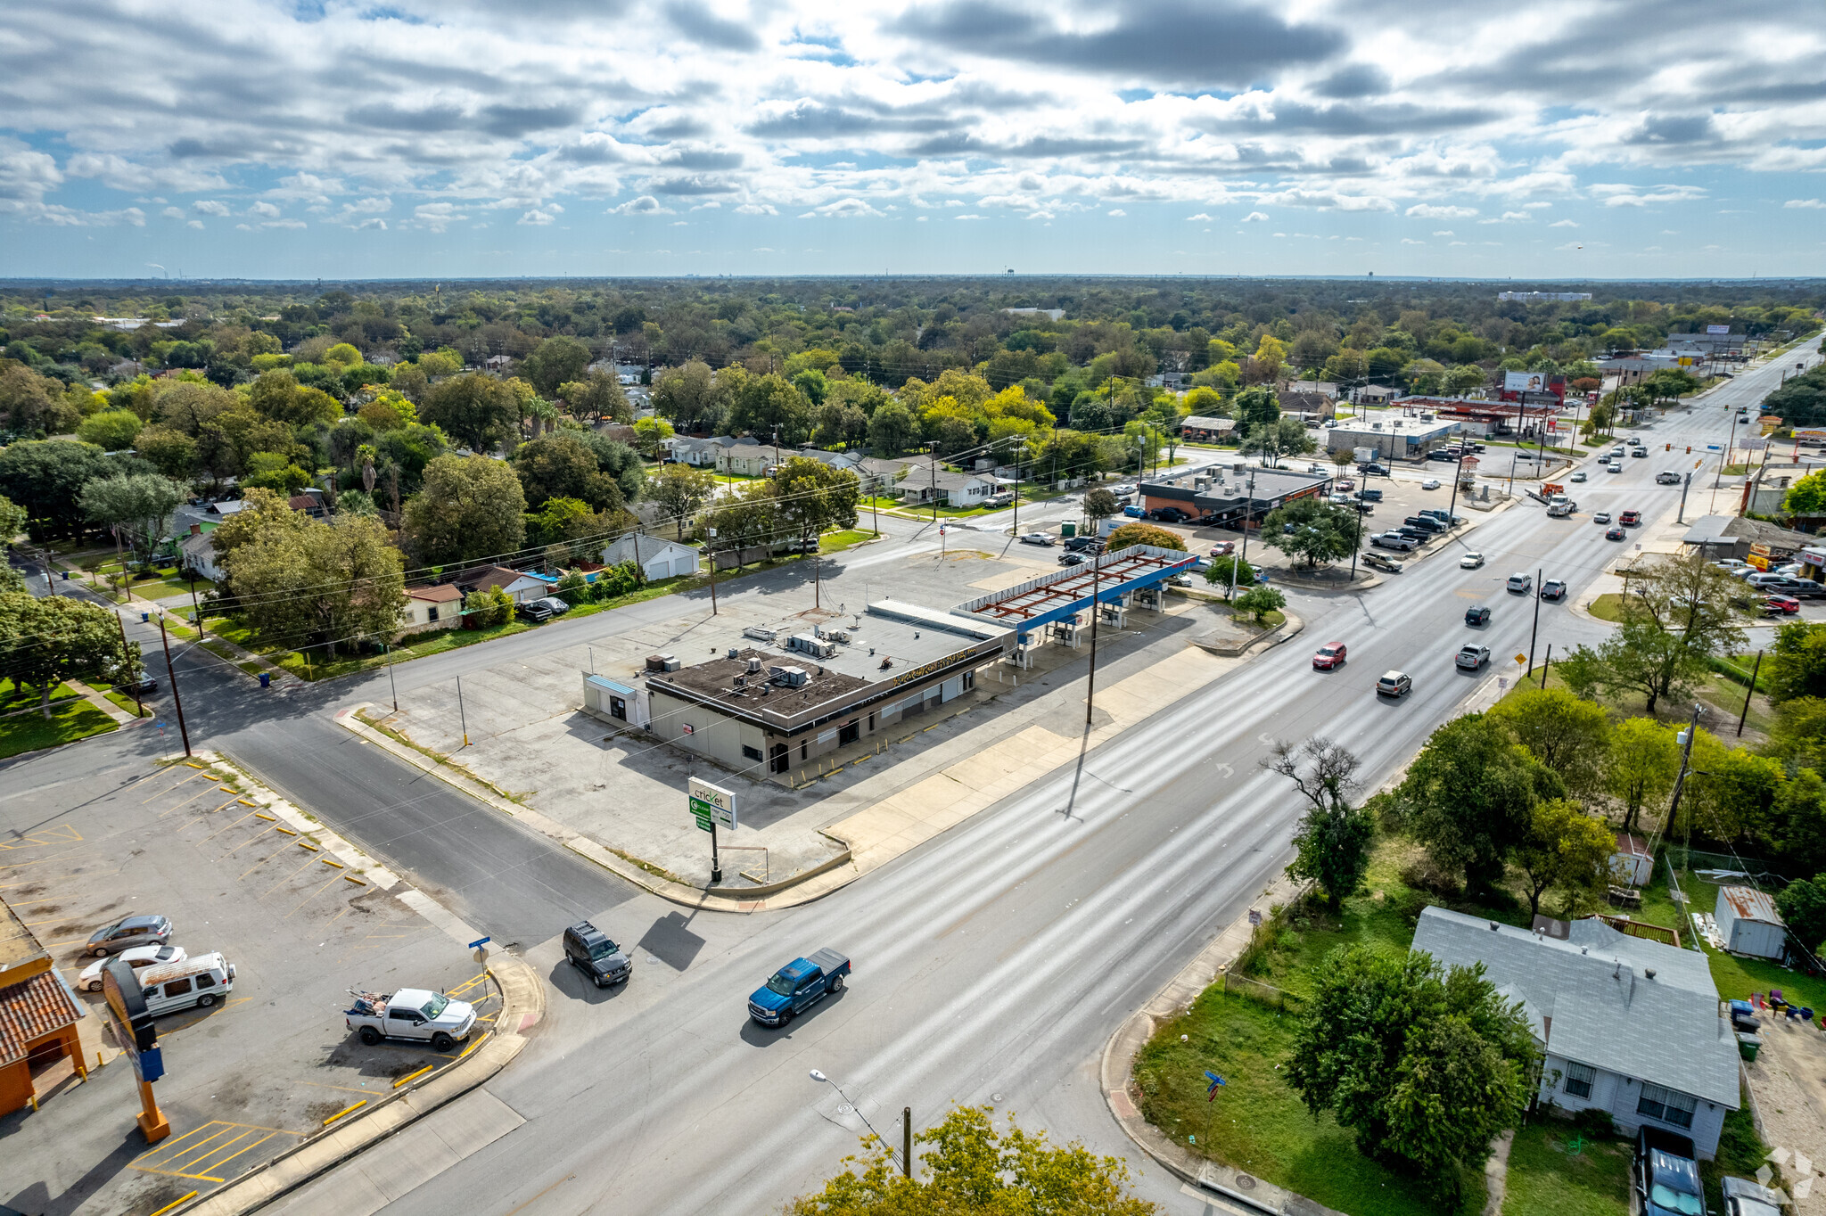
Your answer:
[[[1716,1156],[1724,1116],[1740,1101],[1738,1057],[1705,955],[1596,918],[1556,940],[1444,907],[1421,913],[1413,949],[1448,968],[1481,964],[1521,1006],[1547,1055],[1543,1103],[1607,1112],[1625,1136],[1671,1128],[1691,1136],[1702,1159]]]

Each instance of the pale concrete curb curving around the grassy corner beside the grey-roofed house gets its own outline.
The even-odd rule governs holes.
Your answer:
[[[1284,873],[1256,898],[1256,911],[1286,904],[1300,889],[1302,884],[1291,882]],[[1244,1170],[1192,1156],[1176,1141],[1167,1139],[1165,1132],[1143,1119],[1134,1101],[1136,1054],[1154,1035],[1158,1022],[1192,1004],[1216,980],[1220,968],[1229,966],[1244,951],[1253,928],[1247,913],[1233,920],[1165,988],[1154,993],[1152,1001],[1116,1028],[1116,1033],[1103,1044],[1103,1059],[1097,1066],[1103,1101],[1110,1108],[1110,1117],[1134,1141],[1136,1148],[1203,1194],[1216,1194],[1249,1211],[1273,1212],[1273,1216],[1342,1216],[1342,1212],[1265,1183]]]

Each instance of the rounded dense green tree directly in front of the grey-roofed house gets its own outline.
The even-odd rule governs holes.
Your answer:
[[[1331,951],[1295,1030],[1287,1085],[1370,1156],[1397,1158],[1457,1207],[1490,1141],[1516,1127],[1539,1052],[1483,968],[1424,953]]]

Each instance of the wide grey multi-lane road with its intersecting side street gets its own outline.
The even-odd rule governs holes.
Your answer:
[[[1286,862],[1298,807],[1260,767],[1271,743],[1326,734],[1364,758],[1371,783],[1384,780],[1479,683],[1452,663],[1466,634],[1464,606],[1495,608],[1481,635],[1495,655],[1525,652],[1534,601],[1506,595],[1503,579],[1543,570],[1565,579],[1576,599],[1623,548],[1603,540],[1589,513],[1671,519],[1680,487],[1654,484],[1656,471],[1674,467],[1662,444],[1680,453],[1722,442],[1735,411],[1760,402],[1777,378],[1773,365],[1744,372],[1691,413],[1658,420],[1643,431],[1651,458],[1625,460],[1621,473],[1587,462],[1581,515],[1570,520],[1547,519],[1527,500],[1488,517],[1468,513],[1481,522],[1463,546],[1486,555],[1483,570],[1459,570],[1441,553],[1368,593],[1295,593],[1293,608],[1307,621],[1302,639],[1092,750],[1090,780],[1076,796],[1070,772],[1041,780],[791,911],[688,915],[632,893],[327,721],[338,705],[382,699],[383,677],[259,699],[245,681],[192,666],[181,674],[192,688],[186,708],[195,738],[245,761],[469,924],[517,942],[551,977],[546,1022],[486,1086],[526,1121],[389,1211],[772,1211],[855,1148],[860,1125],[838,1110],[829,1086],[807,1077],[818,1068],[878,1127],[902,1106],[928,1123],[951,1103],[993,1101],[1054,1136],[1127,1156],[1143,1196],[1172,1212],[1200,1212],[1203,1205],[1141,1159],[1110,1121],[1097,1057],[1110,1032]],[[1711,466],[1695,478],[1687,519],[1704,513],[1695,504],[1709,478]],[[860,570],[915,544],[933,540],[902,535],[844,562]],[[676,601],[652,601],[617,613],[619,623],[593,617],[562,626],[568,634],[533,630],[418,661],[398,668],[400,690],[449,679],[466,665],[502,663],[517,648],[546,650],[557,637],[581,641],[679,612]],[[1601,630],[1567,606],[1543,604],[1537,652]],[[1313,672],[1313,645],[1331,639],[1349,643],[1349,665]],[[1413,676],[1410,697],[1375,696],[1386,668]],[[42,758],[9,780],[62,780],[150,747],[144,734]],[[624,991],[586,991],[559,964],[550,938],[579,915],[641,942]],[[844,995],[785,1032],[747,1022],[745,995],[780,962],[820,946],[855,960]],[[385,1165],[382,1158],[371,1169]],[[343,1167],[281,1211],[349,1216],[360,1207],[354,1216],[363,1216],[374,1203],[360,1196],[371,1194]]]

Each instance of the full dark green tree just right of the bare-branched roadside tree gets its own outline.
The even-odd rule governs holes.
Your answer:
[[[1382,798],[1382,814],[1435,865],[1463,875],[1474,895],[1485,895],[1503,880],[1534,805],[1563,796],[1559,774],[1512,741],[1508,730],[1486,714],[1464,714],[1433,730],[1408,776]]]

